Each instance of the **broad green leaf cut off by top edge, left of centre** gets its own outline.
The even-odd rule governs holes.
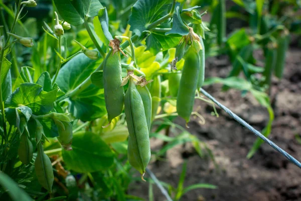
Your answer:
[[[69,24],[79,26],[86,18],[98,15],[103,8],[98,0],[54,0],[60,16]]]

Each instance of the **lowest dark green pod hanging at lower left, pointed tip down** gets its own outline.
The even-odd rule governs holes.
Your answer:
[[[52,164],[49,157],[44,153],[41,141],[37,147],[38,153],[35,161],[35,169],[38,181],[48,192],[52,192],[52,184],[54,181]]]

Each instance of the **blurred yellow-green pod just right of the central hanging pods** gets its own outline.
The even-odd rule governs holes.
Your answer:
[[[154,121],[161,102],[161,78],[160,75],[154,78],[149,92],[152,95],[152,121]]]

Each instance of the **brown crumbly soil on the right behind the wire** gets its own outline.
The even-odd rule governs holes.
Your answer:
[[[301,160],[301,144],[298,144],[295,135],[301,134],[300,55],[299,49],[290,49],[283,79],[272,81],[271,100],[275,120],[269,136],[270,140],[298,160]],[[224,77],[231,69],[227,57],[209,58],[206,62],[207,77]],[[262,130],[266,125],[266,109],[250,93],[242,97],[241,92],[234,89],[222,92],[220,84],[204,89],[257,130]],[[196,102],[195,110],[206,119],[206,124],[200,125],[197,120],[192,120],[188,131],[208,144],[218,168],[209,157],[200,158],[192,145],[187,143],[169,150],[165,161],[153,160],[149,164],[149,169],[159,180],[176,187],[182,164],[187,160],[185,186],[210,183],[217,185],[218,189],[195,189],[185,194],[181,200],[301,200],[301,169],[267,144],[263,144],[251,159],[246,159],[256,140],[254,134],[224,111],[217,108],[220,115],[217,118],[211,116],[212,106],[201,100]],[[184,120],[180,118],[175,122],[185,126]],[[152,150],[158,150],[163,142],[152,139],[151,144]],[[148,200],[148,184],[131,183],[129,194]],[[156,186],[154,196],[155,200],[166,200]]]

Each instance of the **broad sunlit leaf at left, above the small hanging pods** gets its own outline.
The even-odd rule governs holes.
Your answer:
[[[33,114],[42,115],[53,109],[58,89],[46,92],[42,86],[35,83],[21,84],[6,100],[6,107],[18,108],[27,106]]]

